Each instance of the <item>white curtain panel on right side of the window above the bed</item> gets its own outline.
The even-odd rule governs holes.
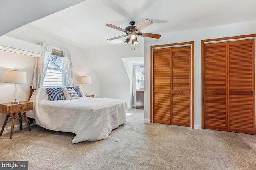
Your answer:
[[[63,56],[64,56],[64,68],[65,68],[64,71],[66,75],[67,86],[74,86],[75,78],[74,78],[73,66],[71,62],[70,51],[63,50]]]

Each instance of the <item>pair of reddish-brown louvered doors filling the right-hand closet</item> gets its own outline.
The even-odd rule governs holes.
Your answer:
[[[205,129],[255,134],[254,39],[204,47]]]

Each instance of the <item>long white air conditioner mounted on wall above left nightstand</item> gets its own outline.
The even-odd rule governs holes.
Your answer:
[[[41,45],[2,35],[0,37],[0,51],[30,57],[40,57]]]

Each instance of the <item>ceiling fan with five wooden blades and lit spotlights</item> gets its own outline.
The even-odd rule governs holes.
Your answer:
[[[127,37],[129,36],[126,41],[124,41],[124,43],[128,44],[130,39],[132,39],[132,45],[136,45],[138,44],[138,41],[137,41],[137,37],[136,35],[138,36],[141,36],[141,37],[149,37],[149,38],[160,38],[161,35],[160,34],[151,34],[151,33],[141,33],[140,31],[146,27],[148,27],[149,25],[151,25],[153,22],[146,19],[144,21],[142,21],[142,23],[140,23],[138,26],[135,26],[135,22],[134,21],[131,21],[129,24],[130,26],[126,27],[125,29],[122,29],[120,27],[117,27],[115,25],[112,25],[112,24],[107,24],[106,26],[107,27],[110,27],[110,28],[114,28],[114,29],[117,29],[118,31],[122,31],[125,33],[125,35],[121,35],[119,37],[114,37],[114,38],[110,38],[108,40],[113,40],[113,39],[118,39],[118,38],[122,38],[122,37]]]

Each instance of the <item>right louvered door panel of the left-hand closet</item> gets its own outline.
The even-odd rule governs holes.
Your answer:
[[[171,53],[171,124],[190,126],[190,46]]]

